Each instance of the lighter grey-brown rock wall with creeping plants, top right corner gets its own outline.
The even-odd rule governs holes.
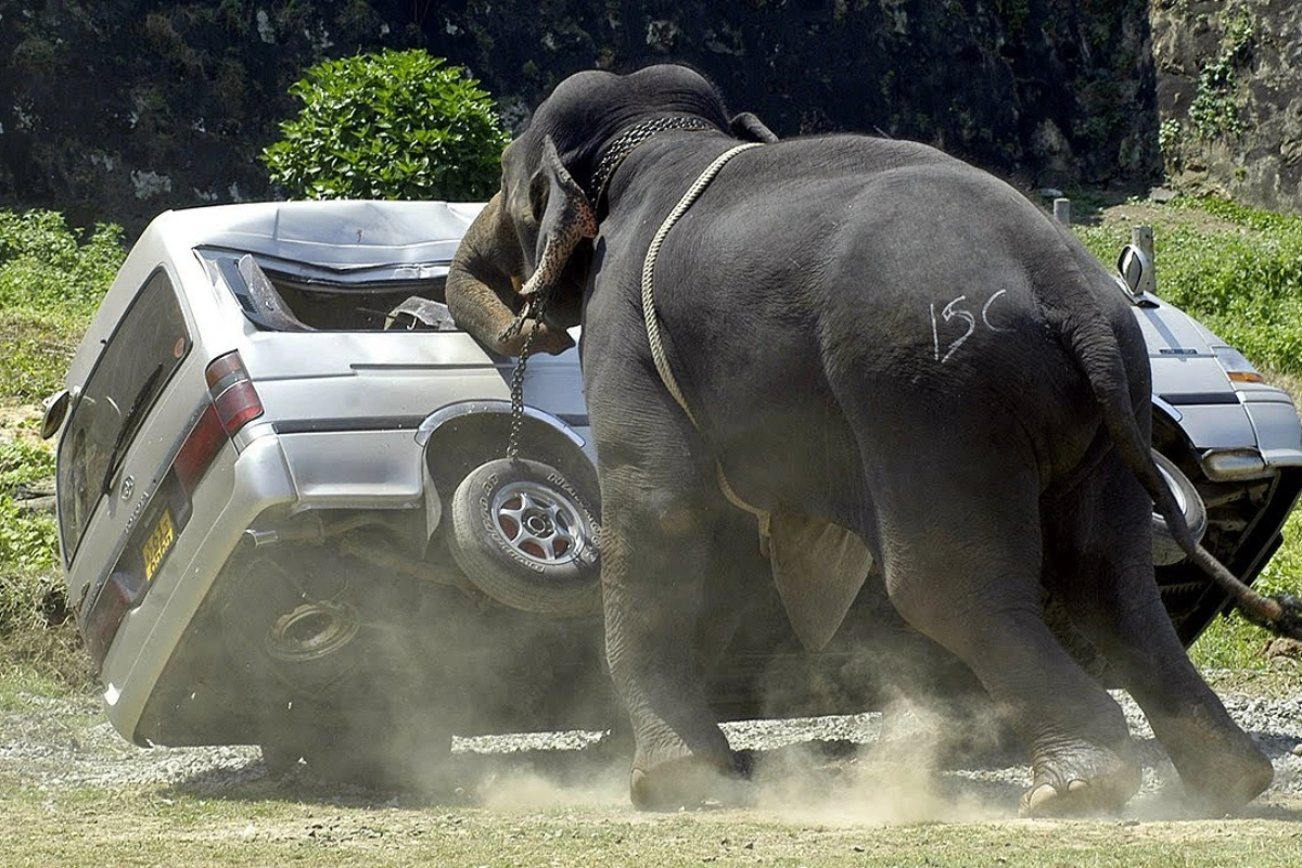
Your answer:
[[[1302,4],[1155,0],[1170,182],[1302,212]]]

